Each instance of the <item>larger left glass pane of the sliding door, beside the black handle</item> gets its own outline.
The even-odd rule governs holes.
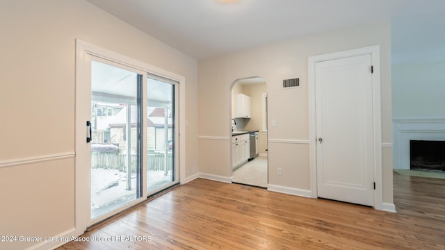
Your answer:
[[[141,79],[127,69],[91,62],[91,219],[142,196]]]

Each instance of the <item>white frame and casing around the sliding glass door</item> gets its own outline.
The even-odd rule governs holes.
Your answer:
[[[175,167],[179,170],[179,180],[180,184],[183,184],[185,178],[185,165],[186,165],[186,119],[185,119],[185,90],[186,90],[186,82],[185,77],[180,76],[178,74],[168,72],[164,69],[160,69],[159,67],[155,67],[149,65],[147,63],[140,62],[133,58],[129,58],[127,56],[123,56],[120,53],[115,53],[113,51],[109,51],[108,49],[104,49],[102,47],[97,47],[93,44],[89,44],[88,42],[83,42],[82,40],[76,39],[76,83],[75,83],[75,126],[74,126],[74,134],[75,134],[75,150],[76,150],[76,158],[75,158],[75,170],[74,170],[74,185],[75,185],[75,210],[74,210],[74,224],[75,229],[72,235],[77,236],[81,235],[86,228],[89,226],[90,222],[90,213],[87,210],[90,208],[88,206],[89,196],[86,193],[89,191],[86,183],[85,176],[88,176],[88,169],[85,167],[86,165],[90,166],[88,163],[88,159],[86,158],[86,153],[90,153],[85,149],[84,145],[86,144],[86,123],[85,121],[90,119],[90,117],[84,117],[85,114],[82,113],[82,110],[90,106],[88,101],[81,99],[83,92],[90,90],[88,89],[88,81],[90,81],[90,57],[95,56],[97,58],[104,58],[114,63],[122,64],[127,67],[131,67],[133,69],[140,70],[142,72],[147,72],[149,74],[154,74],[156,76],[161,76],[164,78],[171,79],[172,81],[177,81],[179,83],[179,103],[177,104],[177,129],[178,138],[177,138],[177,150],[179,151],[177,155],[177,165]],[[146,79],[144,79],[144,82]],[[146,94],[143,93],[143,97],[146,97]],[[146,107],[143,106],[143,110]],[[145,114],[145,113],[144,113]],[[145,123],[143,123],[145,124]],[[145,128],[145,126],[143,126]],[[143,142],[145,144],[146,137],[145,134],[143,136]],[[146,160],[143,159],[143,163],[146,163]],[[88,181],[88,180],[87,180]],[[143,190],[146,190],[146,184],[143,182]],[[146,194],[146,191],[143,192]],[[143,199],[141,202],[145,201]]]

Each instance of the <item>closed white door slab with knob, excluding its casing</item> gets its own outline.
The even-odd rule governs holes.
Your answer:
[[[318,197],[373,206],[371,54],[315,64]]]

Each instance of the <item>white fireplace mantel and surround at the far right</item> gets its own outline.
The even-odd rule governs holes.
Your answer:
[[[410,140],[445,141],[445,117],[393,119],[394,169],[410,169]]]

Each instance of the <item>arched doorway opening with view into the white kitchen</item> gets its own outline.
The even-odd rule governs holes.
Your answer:
[[[232,182],[267,188],[266,81],[261,77],[238,79],[231,93]]]

